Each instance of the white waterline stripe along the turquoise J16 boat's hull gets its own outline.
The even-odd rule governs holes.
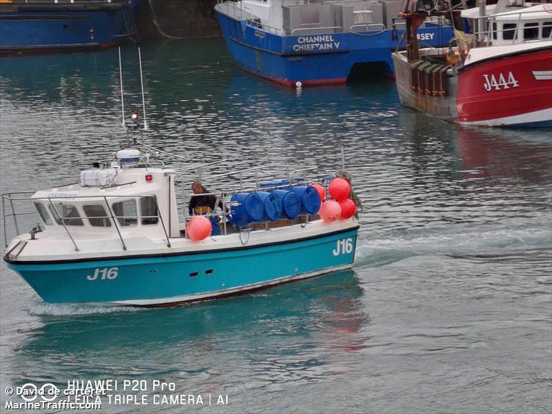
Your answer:
[[[131,300],[111,302],[111,303],[117,304],[117,305],[148,306],[148,305],[171,304],[171,303],[178,303],[178,302],[195,302],[202,299],[208,299],[210,297],[216,297],[221,295],[231,295],[233,293],[245,292],[246,290],[254,290],[257,288],[263,288],[265,286],[291,282],[292,280],[306,279],[308,277],[322,275],[323,273],[335,272],[337,270],[345,270],[352,267],[353,267],[353,264],[344,264],[342,266],[335,266],[331,268],[325,268],[322,270],[316,270],[315,272],[311,272],[311,273],[302,273],[301,275],[280,277],[279,279],[269,280],[268,282],[248,284],[248,285],[238,286],[237,288],[231,288],[231,289],[213,290],[213,292],[198,293],[197,295],[160,297],[157,299],[131,299]]]

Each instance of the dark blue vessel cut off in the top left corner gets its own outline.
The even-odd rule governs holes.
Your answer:
[[[0,1],[0,53],[107,48],[135,36],[138,0]]]

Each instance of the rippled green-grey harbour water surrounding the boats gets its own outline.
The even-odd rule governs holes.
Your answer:
[[[137,49],[121,53],[126,112],[141,112]],[[103,395],[102,413],[552,411],[551,130],[431,119],[387,77],[284,88],[238,70],[218,38],[141,55],[154,146],[267,173],[335,171],[343,147],[362,200],[355,266],[143,309],[45,304],[2,262],[2,412],[22,401],[8,387],[72,380],[131,396]],[[75,182],[124,139],[117,49],[0,58],[1,193]]]

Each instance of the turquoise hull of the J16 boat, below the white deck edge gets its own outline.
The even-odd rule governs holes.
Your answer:
[[[350,268],[356,239],[357,228],[348,228],[309,239],[205,253],[41,263],[4,259],[45,302],[167,306]]]

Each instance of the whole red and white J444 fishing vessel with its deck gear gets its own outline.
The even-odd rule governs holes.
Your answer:
[[[401,103],[460,124],[552,126],[552,4],[500,0],[462,10],[449,48],[420,48],[417,27],[445,3],[407,0],[406,51],[395,52]]]

